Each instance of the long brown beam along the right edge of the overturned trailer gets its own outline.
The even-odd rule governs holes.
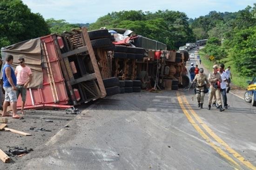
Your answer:
[[[90,41],[90,38],[89,38],[87,28],[84,27],[84,26],[82,27],[82,33],[83,33],[82,37],[85,40],[85,43],[86,43],[86,46],[88,48],[88,52],[89,52],[89,55],[90,55],[90,58],[91,58],[91,62],[93,64],[93,68],[94,68],[94,72],[95,72],[95,75],[96,75],[96,78],[97,78],[97,82],[98,82],[100,90],[101,90],[101,97],[105,97],[107,95],[107,93],[106,93],[106,90],[105,90],[105,87],[104,87],[104,84],[103,84],[103,81],[102,81],[101,72],[100,72],[96,57],[94,55],[94,50],[93,50],[93,47],[92,47],[92,44],[91,44],[91,41]]]

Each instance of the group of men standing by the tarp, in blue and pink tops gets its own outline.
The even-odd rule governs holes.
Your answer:
[[[3,104],[2,116],[12,116],[19,119],[17,114],[17,99],[21,95],[22,106],[21,113],[24,114],[24,106],[26,102],[27,86],[32,79],[32,72],[25,64],[25,57],[19,57],[19,64],[15,71],[11,67],[13,64],[13,56],[7,55],[6,63],[3,66],[3,88],[5,90],[5,100]],[[13,114],[7,113],[7,107],[10,105]]]

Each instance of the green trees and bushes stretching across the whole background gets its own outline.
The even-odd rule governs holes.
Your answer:
[[[45,20],[40,13],[32,13],[21,0],[0,0],[0,14],[0,47],[81,26],[87,26],[88,30],[126,28],[167,44],[168,50],[208,38],[203,52],[215,59],[202,58],[203,63],[230,65],[233,82],[241,87],[246,86],[243,80],[256,74],[256,4],[235,13],[211,11],[196,19],[189,19],[179,11],[131,10],[108,13],[91,24],[70,24],[65,19]]]

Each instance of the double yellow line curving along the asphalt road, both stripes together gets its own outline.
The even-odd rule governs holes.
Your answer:
[[[179,101],[179,104],[182,108],[183,113],[188,118],[189,122],[194,126],[195,130],[199,132],[199,134],[202,136],[203,139],[206,140],[206,142],[213,147],[217,153],[219,153],[223,158],[225,158],[229,164],[234,166],[235,169],[243,170],[241,167],[241,163],[244,164],[246,167],[248,167],[251,170],[256,170],[256,167],[251,164],[249,161],[245,160],[239,153],[237,153],[235,150],[233,150],[227,143],[225,143],[220,137],[218,137],[210,128],[207,126],[201,118],[195,113],[195,111],[192,109],[192,107],[189,105],[189,102],[187,101],[186,97],[184,95],[181,95],[180,92],[177,92],[177,98]],[[186,109],[186,107],[188,109]],[[190,112],[190,113],[189,113]],[[194,118],[193,118],[194,117]],[[195,119],[195,120],[194,120]],[[197,121],[197,122],[196,122]],[[230,157],[221,147],[214,144],[213,140],[209,138],[209,136],[202,130],[202,128],[199,126],[201,125],[202,128],[213,138],[216,140],[217,143],[219,143],[222,148],[226,151],[228,151],[233,157],[236,158],[238,163]]]

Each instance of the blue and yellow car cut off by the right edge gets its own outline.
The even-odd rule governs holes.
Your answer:
[[[256,106],[256,77],[252,81],[247,81],[249,86],[244,93],[244,101],[251,103],[252,106]]]

